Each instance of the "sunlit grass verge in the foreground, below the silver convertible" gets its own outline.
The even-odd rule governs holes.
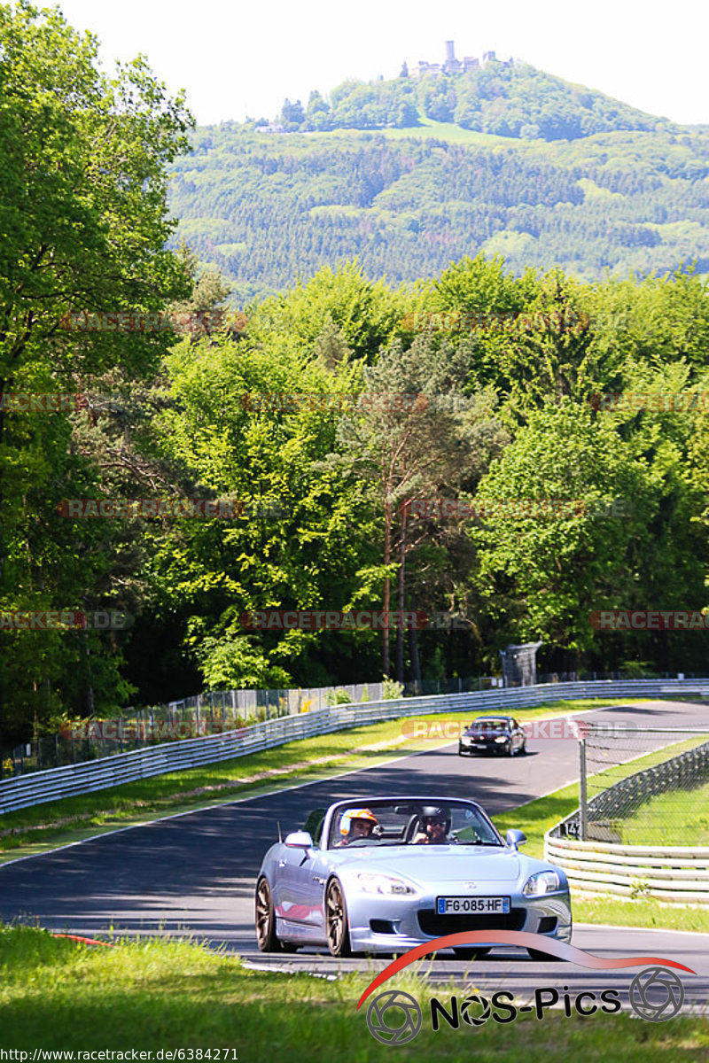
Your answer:
[[[627,1014],[565,1018],[562,1011],[547,1011],[541,1020],[526,1015],[507,1025],[489,1020],[474,1031],[465,1023],[458,1030],[443,1023],[434,1033],[432,996],[448,1005],[453,994],[474,992],[473,967],[467,984],[434,988],[416,973],[388,982],[415,996],[423,1012],[420,1033],[395,1048],[398,1060],[468,1063],[473,1050],[483,1063],[518,1063],[522,1057],[525,1063],[548,1063],[581,1053],[625,1063],[666,1063],[680,1052],[688,1060],[707,1058],[709,1023],[703,1017],[645,1023]],[[333,981],[267,974],[184,942],[92,948],[28,927],[0,927],[0,971],[4,1049],[182,1048],[184,1060],[208,1058],[198,1052],[212,1049],[214,1060],[220,1048],[221,1061],[229,1063],[237,1058],[332,1063],[334,1053],[338,1063],[392,1059],[392,1047],[376,1042],[367,1028],[367,1006],[356,1010],[371,973]]]

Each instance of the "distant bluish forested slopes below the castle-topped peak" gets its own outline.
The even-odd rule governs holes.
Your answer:
[[[354,256],[393,283],[480,251],[518,275],[558,265],[592,281],[692,260],[709,272],[706,133],[508,147],[225,124],[191,139],[171,167],[173,246],[223,272],[237,303]]]

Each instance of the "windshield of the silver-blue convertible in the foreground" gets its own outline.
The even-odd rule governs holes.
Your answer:
[[[459,800],[373,799],[340,807],[331,823],[328,848],[421,844],[500,846],[503,842],[482,809]]]

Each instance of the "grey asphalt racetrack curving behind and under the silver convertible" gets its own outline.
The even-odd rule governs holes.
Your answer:
[[[583,719],[708,727],[706,705],[689,703],[601,708],[585,712]],[[657,736],[656,744],[666,741]],[[577,778],[574,738],[530,739],[527,749],[526,757],[511,759],[462,758],[457,756],[455,742],[327,781],[247,797],[20,858],[0,866],[0,918],[98,937],[191,934],[212,946],[236,950],[259,966],[320,974],[368,969],[374,977],[388,960],[342,961],[314,949],[287,957],[257,951],[255,879],[261,857],[277,839],[278,825],[285,837],[302,827],[310,809],[350,796],[359,802],[389,794],[467,797],[494,816]],[[577,925],[573,944],[605,959],[635,954],[685,963],[697,972],[696,977],[680,973],[688,1003],[709,1001],[709,934]],[[424,961],[424,966],[436,981],[465,976],[469,984],[490,992],[507,989],[522,995],[539,985],[556,985],[561,991],[562,983],[570,992],[613,985],[627,990],[638,973],[638,968],[600,973],[561,961],[539,963],[504,948],[474,963],[441,952],[435,962]]]

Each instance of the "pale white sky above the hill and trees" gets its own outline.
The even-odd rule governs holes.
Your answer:
[[[38,0],[37,6],[49,6]],[[402,62],[494,50],[642,111],[709,123],[707,0],[63,0],[91,30],[111,70],[148,56],[171,94],[187,91],[200,124],[273,118],[347,78],[399,74]]]

